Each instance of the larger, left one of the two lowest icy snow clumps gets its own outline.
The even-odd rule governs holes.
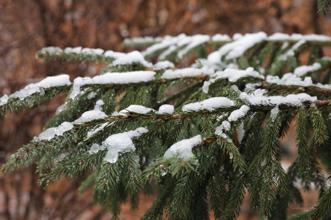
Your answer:
[[[136,148],[134,147],[132,138],[137,138],[146,132],[148,132],[148,130],[141,127],[135,130],[110,135],[105,141],[102,142],[102,148],[108,149],[104,160],[109,163],[115,163],[118,159],[118,153],[125,153],[135,150]],[[97,146],[95,146],[95,148],[97,148]],[[95,148],[93,149],[94,151],[96,151]]]

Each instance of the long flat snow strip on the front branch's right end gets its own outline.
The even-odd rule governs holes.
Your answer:
[[[248,95],[246,92],[240,94],[240,98],[248,101],[252,105],[274,105],[278,106],[281,104],[301,106],[303,102],[315,102],[317,101],[316,96],[310,96],[306,93],[289,94],[287,96],[263,96],[263,95]]]

